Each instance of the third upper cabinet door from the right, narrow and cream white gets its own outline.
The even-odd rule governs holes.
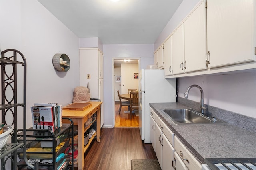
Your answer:
[[[184,23],[172,34],[172,73],[184,73]]]

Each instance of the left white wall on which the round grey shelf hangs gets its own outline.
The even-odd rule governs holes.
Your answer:
[[[65,106],[72,101],[73,90],[79,86],[78,37],[36,0],[1,0],[0,22],[1,50],[17,49],[26,57],[27,127],[31,127],[30,107],[35,102]],[[68,72],[54,69],[56,53],[69,56]]]

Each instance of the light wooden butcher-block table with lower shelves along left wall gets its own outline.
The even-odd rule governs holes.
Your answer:
[[[90,145],[91,141],[84,146],[84,132],[89,128],[84,128],[84,123],[90,118],[94,113],[97,113],[97,142],[100,142],[100,106],[102,102],[91,102],[92,106],[86,108],[85,110],[63,110],[62,117],[68,117],[72,119],[74,125],[78,126],[78,170],[84,170],[84,152]],[[65,122],[63,122],[65,123]]]

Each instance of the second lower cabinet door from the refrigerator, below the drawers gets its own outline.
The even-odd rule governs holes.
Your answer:
[[[155,137],[156,137],[156,157],[158,159],[158,162],[160,164],[160,167],[162,169],[162,131],[160,127],[156,123],[156,129],[155,129]]]

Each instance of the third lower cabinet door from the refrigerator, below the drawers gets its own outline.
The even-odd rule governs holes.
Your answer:
[[[174,170],[172,160],[174,160],[174,148],[163,133],[163,153],[162,153],[162,169]]]

